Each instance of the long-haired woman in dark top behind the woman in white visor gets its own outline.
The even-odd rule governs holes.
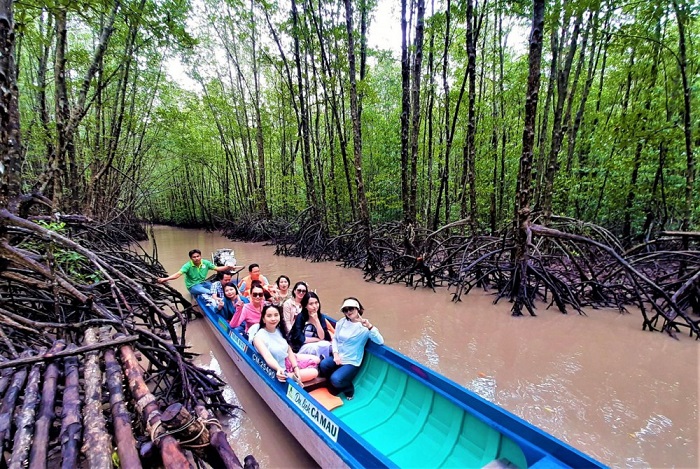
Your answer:
[[[301,300],[301,313],[289,332],[289,344],[297,353],[308,353],[319,358],[330,357],[331,334],[326,318],[321,314],[321,301],[314,292]]]

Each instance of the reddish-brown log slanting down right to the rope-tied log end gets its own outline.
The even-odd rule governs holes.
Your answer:
[[[180,444],[170,435],[163,435],[160,425],[160,408],[156,397],[151,394],[143,378],[141,366],[129,345],[119,348],[129,383],[131,395],[136,400],[136,408],[146,423],[146,429],[151,434],[151,440],[160,449],[163,465],[167,469],[190,469],[191,465],[185,457]]]

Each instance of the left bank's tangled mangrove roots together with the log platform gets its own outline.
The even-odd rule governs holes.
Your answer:
[[[217,431],[207,428],[219,424],[207,409],[236,406],[220,378],[191,361],[190,303],[154,281],[162,266],[136,243],[124,247],[124,232],[30,215],[37,207],[26,205],[46,202],[0,209],[0,465],[111,466],[118,456],[122,467],[189,466],[192,457],[240,467],[225,435],[210,447]],[[206,439],[160,424],[173,405]]]

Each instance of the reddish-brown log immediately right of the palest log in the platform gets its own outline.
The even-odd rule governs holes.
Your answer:
[[[126,407],[122,392],[124,377],[114,350],[111,348],[105,350],[105,372],[119,464],[121,467],[140,468],[141,460],[136,451],[136,439],[131,430],[131,414]]]

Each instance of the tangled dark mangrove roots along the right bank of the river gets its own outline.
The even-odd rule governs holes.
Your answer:
[[[690,336],[700,336],[700,320],[689,312],[700,314],[700,233],[664,232],[625,252],[599,226],[552,217],[546,227],[530,226],[528,259],[516,262],[510,230],[468,236],[462,234],[467,220],[460,220],[437,231],[385,223],[367,234],[360,223],[352,223],[330,235],[312,213],[302,212],[278,237],[268,233],[275,254],[337,261],[380,283],[448,287],[454,301],[474,288],[492,290],[496,302],[507,298],[513,303],[515,316],[524,311],[534,316],[537,302],[564,314],[569,309],[584,314],[584,308],[625,313],[635,306],[645,330],[675,336],[687,329]],[[241,232],[230,228],[224,234]]]

